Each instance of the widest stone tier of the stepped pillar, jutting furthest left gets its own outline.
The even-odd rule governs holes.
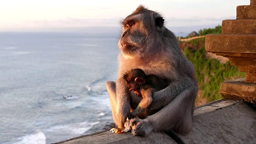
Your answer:
[[[256,34],[208,34],[205,37],[207,52],[256,54]]]

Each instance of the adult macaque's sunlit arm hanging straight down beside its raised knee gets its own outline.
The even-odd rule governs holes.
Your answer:
[[[126,87],[122,76],[116,80],[116,117],[118,119],[118,128],[122,128],[127,117],[130,117],[129,90]]]

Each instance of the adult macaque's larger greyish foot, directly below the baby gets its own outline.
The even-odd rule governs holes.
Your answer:
[[[152,132],[152,124],[148,120],[133,118],[124,123],[124,127],[136,136],[147,136]]]

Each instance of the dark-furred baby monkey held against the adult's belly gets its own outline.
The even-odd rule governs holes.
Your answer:
[[[146,116],[148,114],[146,108],[152,102],[152,94],[166,88],[170,84],[167,79],[160,78],[154,74],[146,75],[139,68],[126,72],[124,79],[126,80],[128,90],[142,97],[137,108],[131,112],[131,118]]]

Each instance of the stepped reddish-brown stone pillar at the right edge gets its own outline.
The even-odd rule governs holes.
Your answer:
[[[256,104],[256,0],[237,6],[236,20],[223,20],[222,34],[206,35],[205,47],[246,72],[244,79],[223,82],[221,96]]]

